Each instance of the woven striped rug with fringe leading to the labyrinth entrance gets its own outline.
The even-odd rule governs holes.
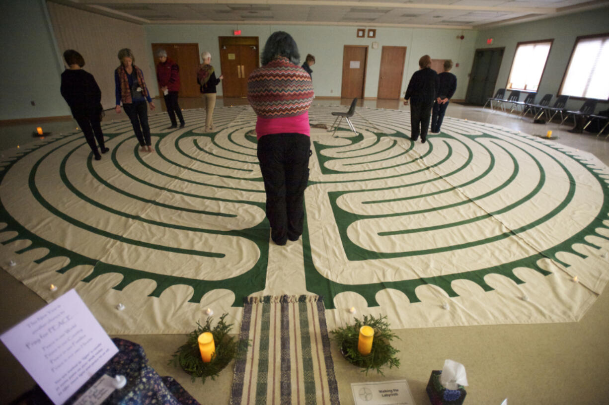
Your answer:
[[[340,404],[319,296],[248,297],[231,405]]]

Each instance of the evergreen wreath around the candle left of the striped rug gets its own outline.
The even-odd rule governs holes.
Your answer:
[[[228,334],[233,324],[227,325],[225,322],[227,315],[220,316],[220,320],[214,328],[211,327],[212,317],[208,317],[203,326],[197,321],[197,328],[188,334],[186,343],[175,351],[172,359],[169,360],[169,364],[173,364],[175,367],[179,365],[186,373],[191,375],[192,382],[197,377],[202,379],[203,384],[205,384],[205,378],[207,377],[216,379],[216,376],[235,358],[237,353],[240,350],[247,350],[249,345],[249,341],[238,342]],[[199,350],[199,335],[203,332],[211,332],[214,335],[214,344],[216,345],[216,353],[208,363],[203,362]]]

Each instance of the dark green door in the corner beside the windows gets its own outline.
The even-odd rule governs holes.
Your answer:
[[[503,52],[504,48],[476,50],[465,95],[467,103],[484,105],[493,96]]]

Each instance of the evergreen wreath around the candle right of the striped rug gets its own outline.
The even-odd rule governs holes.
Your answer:
[[[359,329],[367,325],[375,330],[375,337],[372,341],[372,350],[369,355],[362,356],[357,351],[357,341],[359,340]],[[394,348],[390,342],[397,338],[395,333],[391,331],[389,323],[387,322],[387,316],[380,316],[375,318],[374,316],[364,315],[363,320],[355,318],[355,324],[347,325],[344,328],[337,328],[331,331],[333,334],[333,340],[338,344],[340,353],[345,359],[351,364],[362,367],[362,373],[366,375],[370,370],[376,370],[377,373],[384,375],[381,371],[381,367],[389,364],[391,369],[393,366],[396,368],[400,367],[400,359],[396,356],[400,350]]]

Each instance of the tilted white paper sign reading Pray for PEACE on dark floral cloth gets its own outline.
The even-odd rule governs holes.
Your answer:
[[[0,336],[55,404],[63,404],[118,348],[76,290]]]

